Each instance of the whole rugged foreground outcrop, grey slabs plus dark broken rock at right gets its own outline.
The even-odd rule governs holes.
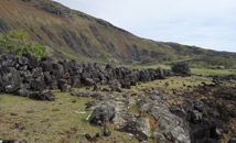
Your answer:
[[[217,143],[223,131],[228,130],[227,127],[223,128],[224,123],[228,123],[229,117],[234,118],[235,111],[230,103],[233,110],[228,110],[221,101],[193,100],[186,97],[181,99],[181,105],[170,105],[168,101],[180,101],[180,97],[176,99],[158,88],[147,88],[143,91],[130,95],[112,91],[74,91],[72,95],[95,99],[86,105],[86,110],[95,111],[94,109],[103,106],[112,107],[116,114],[112,123],[116,129],[131,133],[140,142],[151,138],[158,143]],[[202,90],[200,92],[202,94]],[[219,91],[217,94],[221,95]],[[187,95],[192,97],[192,94]],[[214,98],[217,97],[214,95]]]

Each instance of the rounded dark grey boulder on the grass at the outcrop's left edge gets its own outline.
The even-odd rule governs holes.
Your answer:
[[[116,111],[114,107],[110,106],[100,106],[93,110],[92,116],[88,121],[92,124],[99,124],[111,122],[115,118]]]

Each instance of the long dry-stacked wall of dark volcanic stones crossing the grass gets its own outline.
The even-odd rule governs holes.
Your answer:
[[[42,92],[44,89],[66,91],[71,87],[98,87],[105,84],[111,85],[112,90],[120,90],[120,87],[130,88],[130,85],[136,85],[137,81],[147,82],[171,75],[172,73],[167,69],[131,70],[126,67],[114,67],[110,64],[106,66],[96,63],[77,64],[73,59],[54,63],[47,56],[37,61],[33,54],[24,54],[21,57],[0,55],[0,92],[24,97],[29,97],[31,91]],[[112,84],[114,80],[116,84]]]

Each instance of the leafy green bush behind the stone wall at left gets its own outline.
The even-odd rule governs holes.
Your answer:
[[[39,58],[45,56],[46,46],[42,46],[30,40],[30,34],[23,30],[14,30],[0,33],[0,54],[8,53],[21,56],[25,53],[33,53]]]

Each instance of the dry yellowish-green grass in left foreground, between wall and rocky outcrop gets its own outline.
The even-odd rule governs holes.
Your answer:
[[[90,98],[78,98],[69,96],[69,92],[54,91],[56,100],[35,101],[13,95],[0,95],[0,139],[20,140],[30,143],[87,142],[84,133],[95,135],[103,133],[101,127],[93,127],[86,122],[86,114],[75,111],[85,111],[85,103]],[[73,102],[76,100],[76,102]],[[18,116],[11,116],[18,113]],[[110,128],[112,135],[103,138],[104,142],[136,142],[128,134],[117,132]]]

